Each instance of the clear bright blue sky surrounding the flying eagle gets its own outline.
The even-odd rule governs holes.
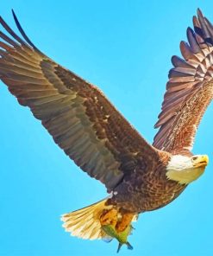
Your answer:
[[[34,44],[54,61],[99,86],[152,143],[172,54],[200,7],[213,21],[212,1],[1,1]],[[165,208],[142,214],[121,255],[213,255],[213,106],[197,132],[194,153],[210,164]],[[116,255],[117,242],[79,240],[60,214],[106,195],[79,170],[0,83],[0,255]]]

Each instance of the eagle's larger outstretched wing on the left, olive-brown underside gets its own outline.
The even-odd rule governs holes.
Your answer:
[[[15,14],[14,18],[25,40],[0,18],[10,35],[0,32],[0,79],[19,103],[41,120],[66,155],[109,191],[135,161],[154,161],[156,150],[103,93],[42,54]]]

